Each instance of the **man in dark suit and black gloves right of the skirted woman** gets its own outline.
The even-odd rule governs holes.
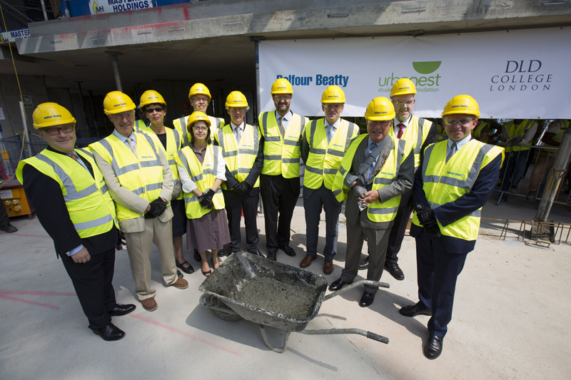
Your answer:
[[[230,253],[241,250],[242,234],[240,223],[242,211],[246,225],[246,249],[254,255],[258,251],[258,201],[260,200],[260,173],[263,165],[263,138],[260,130],[244,120],[250,109],[246,96],[240,91],[232,91],[226,98],[226,110],[230,115],[230,125],[219,128],[216,144],[220,145],[226,162],[226,181],[222,193],[228,214],[228,230],[231,242]]]

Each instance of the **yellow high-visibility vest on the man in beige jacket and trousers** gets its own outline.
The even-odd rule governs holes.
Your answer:
[[[152,202],[161,195],[163,188],[163,165],[161,159],[158,158],[160,149],[158,146],[161,145],[161,141],[156,135],[135,130],[132,136],[136,139],[137,157],[113,133],[89,146],[101,155],[103,160],[111,164],[113,173],[123,188]],[[143,216],[118,202],[115,202],[115,205],[119,221]]]

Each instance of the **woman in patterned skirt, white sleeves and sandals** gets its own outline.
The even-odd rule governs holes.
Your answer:
[[[212,271],[206,251],[212,252],[212,265],[217,269],[218,250],[230,242],[228,219],[224,210],[224,197],[220,185],[226,180],[226,165],[222,148],[212,145],[210,120],[202,112],[188,117],[186,126],[191,136],[190,145],[176,155],[176,164],[183,188],[183,200],[188,222],[186,245],[201,255],[201,272],[209,276]]]

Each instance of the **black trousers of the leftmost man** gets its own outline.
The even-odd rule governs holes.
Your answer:
[[[76,264],[68,255],[60,255],[69,278],[74,284],[89,328],[102,329],[111,323],[108,311],[115,306],[113,272],[115,270],[115,247],[91,255],[91,260]]]

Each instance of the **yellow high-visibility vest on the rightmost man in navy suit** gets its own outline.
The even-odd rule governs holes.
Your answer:
[[[498,155],[502,155],[502,162],[504,159],[503,148],[473,139],[458,150],[447,163],[447,146],[448,141],[442,141],[429,145],[424,151],[423,190],[433,210],[470,192],[478,173],[485,165]],[[481,210],[482,207],[446,227],[438,222],[440,233],[462,240],[476,240],[480,229]],[[413,223],[420,226],[416,212]]]

